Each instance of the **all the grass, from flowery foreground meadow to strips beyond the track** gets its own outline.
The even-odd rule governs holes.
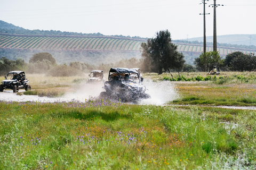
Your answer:
[[[183,75],[198,74],[205,76]],[[170,76],[143,75],[153,81]],[[32,89],[65,92],[86,82],[78,77],[38,77],[27,75]],[[233,100],[239,106],[255,106],[239,97],[255,99],[254,80],[173,83],[180,99],[169,104],[188,106],[129,105],[97,98],[83,103],[0,101],[0,169],[255,169],[256,111],[202,106]]]

